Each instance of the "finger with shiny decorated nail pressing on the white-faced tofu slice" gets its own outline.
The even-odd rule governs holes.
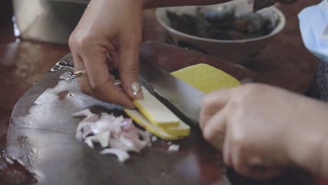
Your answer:
[[[123,90],[132,99],[142,100],[141,86],[139,85],[139,42],[128,41],[121,44],[119,51],[119,71]]]

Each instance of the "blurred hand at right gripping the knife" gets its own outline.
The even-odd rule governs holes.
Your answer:
[[[203,100],[200,127],[224,162],[255,179],[298,165],[318,172],[327,104],[268,85],[217,90]]]

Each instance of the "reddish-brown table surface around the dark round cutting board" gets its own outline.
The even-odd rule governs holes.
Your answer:
[[[299,1],[294,6],[280,7],[287,16],[287,27],[259,57],[247,61],[245,66],[257,71],[269,82],[270,79],[273,79],[271,84],[275,84],[274,78],[281,80],[302,78],[304,83],[299,87],[291,87],[288,84],[287,86],[284,83],[275,85],[303,93],[313,78],[315,58],[303,47],[296,13],[304,6],[315,3]],[[152,11],[145,13],[144,26],[146,28],[144,40],[168,41],[163,29],[156,24]],[[0,25],[0,157],[4,153],[6,130],[15,103],[36,81],[39,81],[46,71],[53,67],[55,62],[67,53],[69,53],[67,46],[17,41],[13,36],[11,23]],[[292,71],[294,67],[298,67],[298,72],[289,74],[288,72]],[[283,73],[279,71],[283,71]],[[232,174],[232,176],[234,175]],[[241,177],[234,179],[238,178]]]

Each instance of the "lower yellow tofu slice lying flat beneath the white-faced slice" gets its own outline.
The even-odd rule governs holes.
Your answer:
[[[132,118],[133,121],[135,121],[137,124],[142,126],[142,128],[148,130],[151,132],[151,134],[156,135],[157,137],[160,137],[161,139],[165,140],[177,140],[181,139],[182,137],[179,137],[177,135],[170,135],[162,128],[157,127],[156,125],[151,124],[142,114],[139,113],[139,111],[130,110],[130,109],[124,109],[125,113]]]

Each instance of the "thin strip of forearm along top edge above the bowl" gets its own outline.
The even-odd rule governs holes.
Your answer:
[[[231,0],[144,0],[144,8],[222,4]]]

